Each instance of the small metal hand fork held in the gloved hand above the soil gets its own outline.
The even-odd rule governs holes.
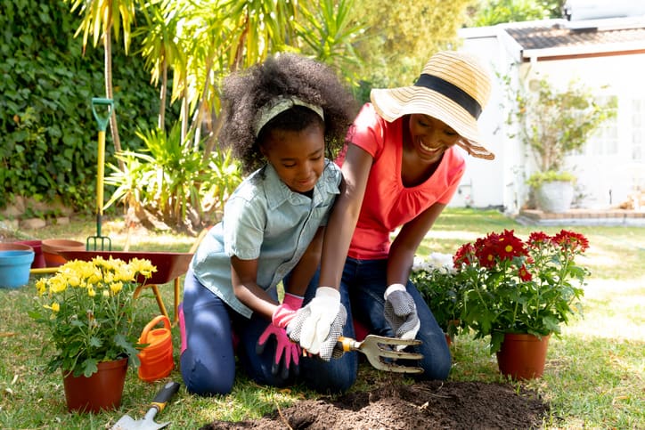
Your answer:
[[[420,367],[402,366],[395,361],[384,361],[383,359],[394,360],[421,360],[423,354],[403,353],[396,351],[397,346],[420,345],[421,341],[416,339],[399,339],[396,337],[382,337],[367,335],[363,342],[358,342],[351,337],[339,337],[336,347],[347,353],[358,351],[365,354],[367,361],[374,369],[385,370],[396,373],[423,373]]]

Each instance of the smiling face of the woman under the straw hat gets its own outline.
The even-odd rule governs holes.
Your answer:
[[[442,154],[459,142],[461,136],[444,122],[428,115],[410,115],[412,149],[426,163],[437,162]]]

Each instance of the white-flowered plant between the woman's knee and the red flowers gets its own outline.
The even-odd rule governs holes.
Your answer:
[[[461,328],[461,283],[454,274],[453,256],[437,252],[427,259],[415,257],[410,274],[449,345]]]

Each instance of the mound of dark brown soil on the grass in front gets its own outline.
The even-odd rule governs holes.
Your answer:
[[[257,420],[215,421],[201,430],[539,428],[548,410],[537,393],[512,385],[426,381],[306,400]]]

